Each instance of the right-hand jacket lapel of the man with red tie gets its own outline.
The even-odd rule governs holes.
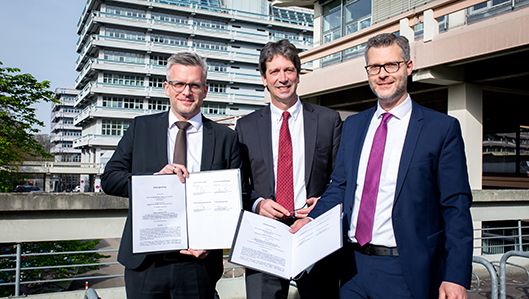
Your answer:
[[[308,186],[312,165],[314,164],[318,115],[313,113],[314,108],[310,104],[305,102],[301,102],[301,104],[303,105],[303,133],[305,139],[305,186]]]

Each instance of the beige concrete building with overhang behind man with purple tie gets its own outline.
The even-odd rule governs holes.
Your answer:
[[[364,44],[383,32],[404,35],[414,62],[410,95],[461,122],[472,189],[529,188],[529,1],[272,4],[314,9],[314,48],[300,54],[314,63],[301,77],[304,100],[351,114],[372,107]]]

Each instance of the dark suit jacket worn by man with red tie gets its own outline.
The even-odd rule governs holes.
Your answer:
[[[342,120],[329,108],[301,102],[305,132],[305,186],[307,198],[318,197],[330,182],[340,144]],[[243,174],[251,187],[244,206],[251,211],[259,197],[275,198],[275,174],[272,157],[272,120],[270,105],[237,121],[244,157]]]

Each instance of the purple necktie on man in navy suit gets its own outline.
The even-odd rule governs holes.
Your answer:
[[[371,241],[373,235],[373,220],[377,206],[378,185],[380,183],[380,172],[382,160],[384,159],[384,147],[386,146],[386,135],[388,133],[388,120],[393,115],[391,113],[382,114],[382,121],[375,132],[373,146],[367,162],[366,177],[362,199],[360,200],[360,210],[358,211],[358,222],[356,224],[355,238],[364,246]]]

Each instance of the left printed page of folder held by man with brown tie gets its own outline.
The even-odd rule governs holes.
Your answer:
[[[185,185],[176,175],[132,177],[132,252],[187,249]]]

